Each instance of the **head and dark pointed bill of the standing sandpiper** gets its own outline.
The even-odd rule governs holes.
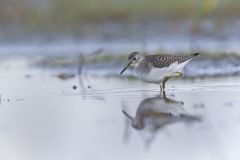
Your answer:
[[[138,52],[132,52],[128,56],[128,64],[123,68],[120,74],[123,74],[123,72],[130,66],[137,67],[143,59],[144,59],[143,55],[140,55]]]

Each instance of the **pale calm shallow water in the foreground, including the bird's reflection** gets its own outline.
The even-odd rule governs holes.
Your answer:
[[[140,81],[88,76],[83,89],[17,66],[0,69],[1,160],[240,156],[239,78],[171,81],[163,98]]]

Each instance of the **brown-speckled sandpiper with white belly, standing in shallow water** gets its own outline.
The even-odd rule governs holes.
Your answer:
[[[160,90],[164,91],[165,83],[169,79],[182,77],[184,66],[198,54],[144,56],[138,52],[132,52],[128,56],[128,64],[123,68],[120,75],[132,66],[140,79],[148,83],[160,83]]]

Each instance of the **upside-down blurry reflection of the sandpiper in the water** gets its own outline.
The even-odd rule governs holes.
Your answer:
[[[177,122],[197,122],[198,116],[191,115],[183,108],[184,102],[167,98],[165,92],[162,96],[144,99],[138,106],[135,117],[125,110],[123,114],[130,120],[131,126],[145,135],[145,143],[149,145],[158,131],[165,126]],[[143,135],[144,136],[144,135]]]

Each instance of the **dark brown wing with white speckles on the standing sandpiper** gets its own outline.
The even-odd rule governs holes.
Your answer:
[[[163,68],[163,67],[168,67],[172,63],[175,63],[175,62],[178,62],[178,64],[185,62],[196,55],[197,54],[192,54],[192,55],[148,55],[148,56],[146,56],[146,61],[151,63],[156,68]]]

